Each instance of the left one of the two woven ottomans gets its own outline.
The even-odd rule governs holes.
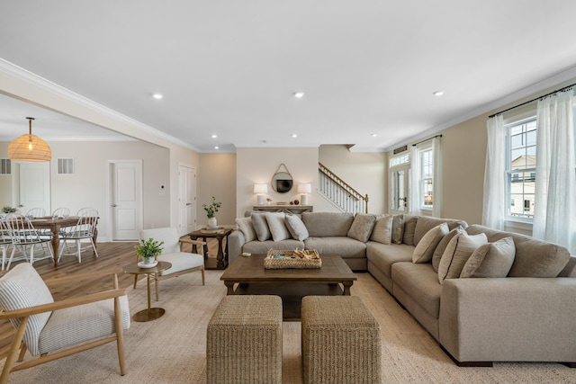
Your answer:
[[[231,295],[208,323],[206,381],[282,383],[282,299]]]

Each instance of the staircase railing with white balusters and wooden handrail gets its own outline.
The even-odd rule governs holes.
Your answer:
[[[363,196],[348,183],[318,163],[318,186],[320,194],[340,210],[352,213],[368,213],[368,195]]]

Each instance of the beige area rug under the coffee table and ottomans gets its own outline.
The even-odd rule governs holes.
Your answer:
[[[204,383],[206,326],[226,294],[220,275],[207,271],[204,287],[200,273],[161,282],[160,301],[153,306],[165,308],[166,315],[131,323],[125,333],[125,376],[119,373],[115,344],[107,344],[14,372],[10,383]],[[555,363],[459,368],[370,274],[357,277],[352,294],[365,299],[382,326],[385,383],[576,383],[576,369]],[[146,308],[144,281],[129,297],[132,314]],[[284,383],[302,382],[300,336],[299,322],[284,322]]]

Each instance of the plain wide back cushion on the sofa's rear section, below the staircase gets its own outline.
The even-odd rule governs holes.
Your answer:
[[[310,237],[348,236],[354,214],[350,212],[304,212],[302,222]]]

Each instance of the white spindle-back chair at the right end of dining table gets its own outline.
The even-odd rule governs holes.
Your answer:
[[[96,228],[98,211],[94,210],[94,208],[83,208],[78,210],[77,216],[78,221],[75,226],[65,227],[60,230],[58,237],[62,241],[62,245],[59,247],[58,262],[62,255],[76,255],[78,263],[82,263],[82,251],[90,247],[94,250],[94,255],[98,257],[98,251],[94,245],[94,229]],[[65,249],[69,250],[67,242],[70,240],[76,243],[76,252],[64,253]],[[82,240],[89,242],[89,245],[83,247]]]

